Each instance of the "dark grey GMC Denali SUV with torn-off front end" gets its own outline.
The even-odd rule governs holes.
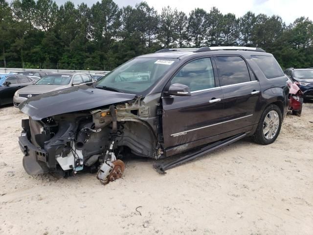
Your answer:
[[[24,101],[23,166],[30,175],[89,168],[106,184],[122,176],[125,155],[179,156],[154,165],[165,172],[246,136],[270,144],[288,109],[287,80],[274,57],[255,47],[138,56],[94,85]]]

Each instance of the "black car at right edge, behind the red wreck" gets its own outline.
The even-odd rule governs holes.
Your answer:
[[[303,92],[304,99],[313,99],[313,69],[289,68],[284,73],[295,82]]]

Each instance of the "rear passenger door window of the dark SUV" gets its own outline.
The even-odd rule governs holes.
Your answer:
[[[217,56],[215,62],[221,86],[251,81],[246,62],[241,57]]]

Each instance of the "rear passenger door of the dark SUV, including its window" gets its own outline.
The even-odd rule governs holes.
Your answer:
[[[261,86],[246,61],[236,55],[214,57],[224,96],[224,131],[238,130],[256,124]]]

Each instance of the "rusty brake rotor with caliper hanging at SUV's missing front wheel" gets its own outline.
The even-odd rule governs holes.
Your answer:
[[[97,179],[104,185],[123,176],[125,164],[121,160],[106,162],[98,170]]]

